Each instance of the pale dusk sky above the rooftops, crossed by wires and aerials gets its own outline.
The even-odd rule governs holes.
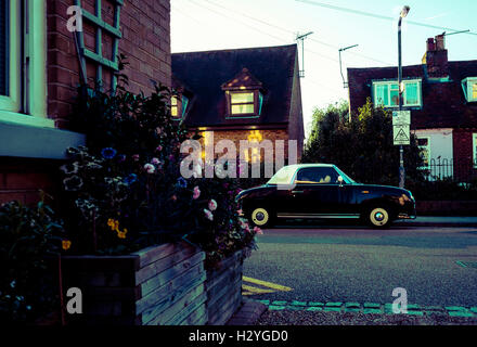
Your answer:
[[[394,66],[398,61],[399,13],[403,64],[420,64],[426,39],[447,31],[450,61],[477,60],[477,1],[470,0],[171,0],[171,50],[176,52],[268,47],[305,40],[301,98],[306,132],[314,107],[347,100],[338,49],[347,67]]]

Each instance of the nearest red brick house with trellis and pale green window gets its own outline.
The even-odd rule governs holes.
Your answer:
[[[72,33],[77,13],[82,31]],[[85,142],[68,130],[81,81],[113,86],[123,53],[132,92],[170,87],[170,1],[2,1],[0,47],[0,203],[29,204],[54,192],[65,149]]]

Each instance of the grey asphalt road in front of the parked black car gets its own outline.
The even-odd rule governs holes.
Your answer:
[[[288,224],[258,246],[244,275],[293,290],[250,298],[386,304],[403,287],[409,304],[477,306],[477,228]]]

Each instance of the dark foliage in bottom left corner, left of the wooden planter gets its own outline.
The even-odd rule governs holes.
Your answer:
[[[0,321],[33,322],[57,305],[46,257],[59,254],[63,224],[41,201],[0,207]]]

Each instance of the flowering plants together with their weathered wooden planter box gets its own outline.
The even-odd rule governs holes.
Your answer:
[[[60,168],[62,222],[38,227],[59,229],[44,242],[54,244],[47,248],[57,260],[52,269],[62,280],[62,312],[67,290],[78,287],[85,313],[67,314],[70,323],[222,323],[240,304],[242,257],[261,231],[240,217],[236,179],[206,179],[195,169],[182,177],[180,149],[190,134],[170,116],[170,92],[158,87],[150,97],[132,94],[123,78],[115,93],[80,89],[72,124],[87,134],[87,146],[67,149],[69,160]],[[8,229],[28,234],[25,213],[9,214]],[[5,258],[11,246],[1,248]],[[0,291],[15,283],[14,274]],[[28,283],[9,291],[23,301]],[[12,295],[0,299],[4,317],[24,317],[10,308],[20,305]]]

